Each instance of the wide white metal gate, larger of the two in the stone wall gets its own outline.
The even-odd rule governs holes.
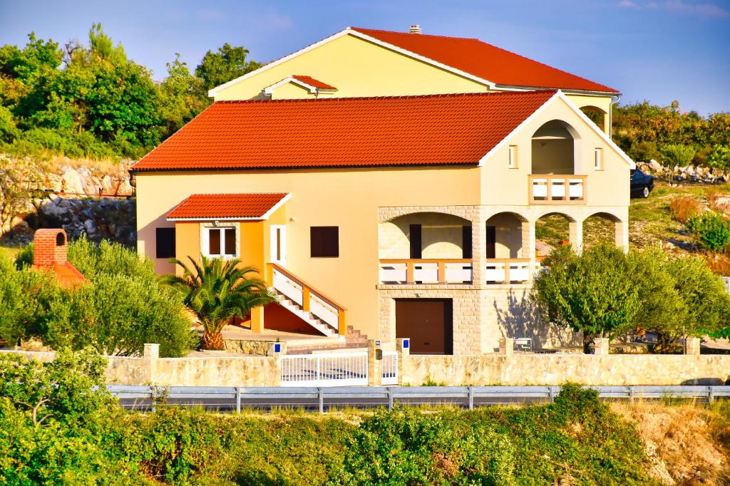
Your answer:
[[[367,386],[367,352],[283,355],[281,386]]]

